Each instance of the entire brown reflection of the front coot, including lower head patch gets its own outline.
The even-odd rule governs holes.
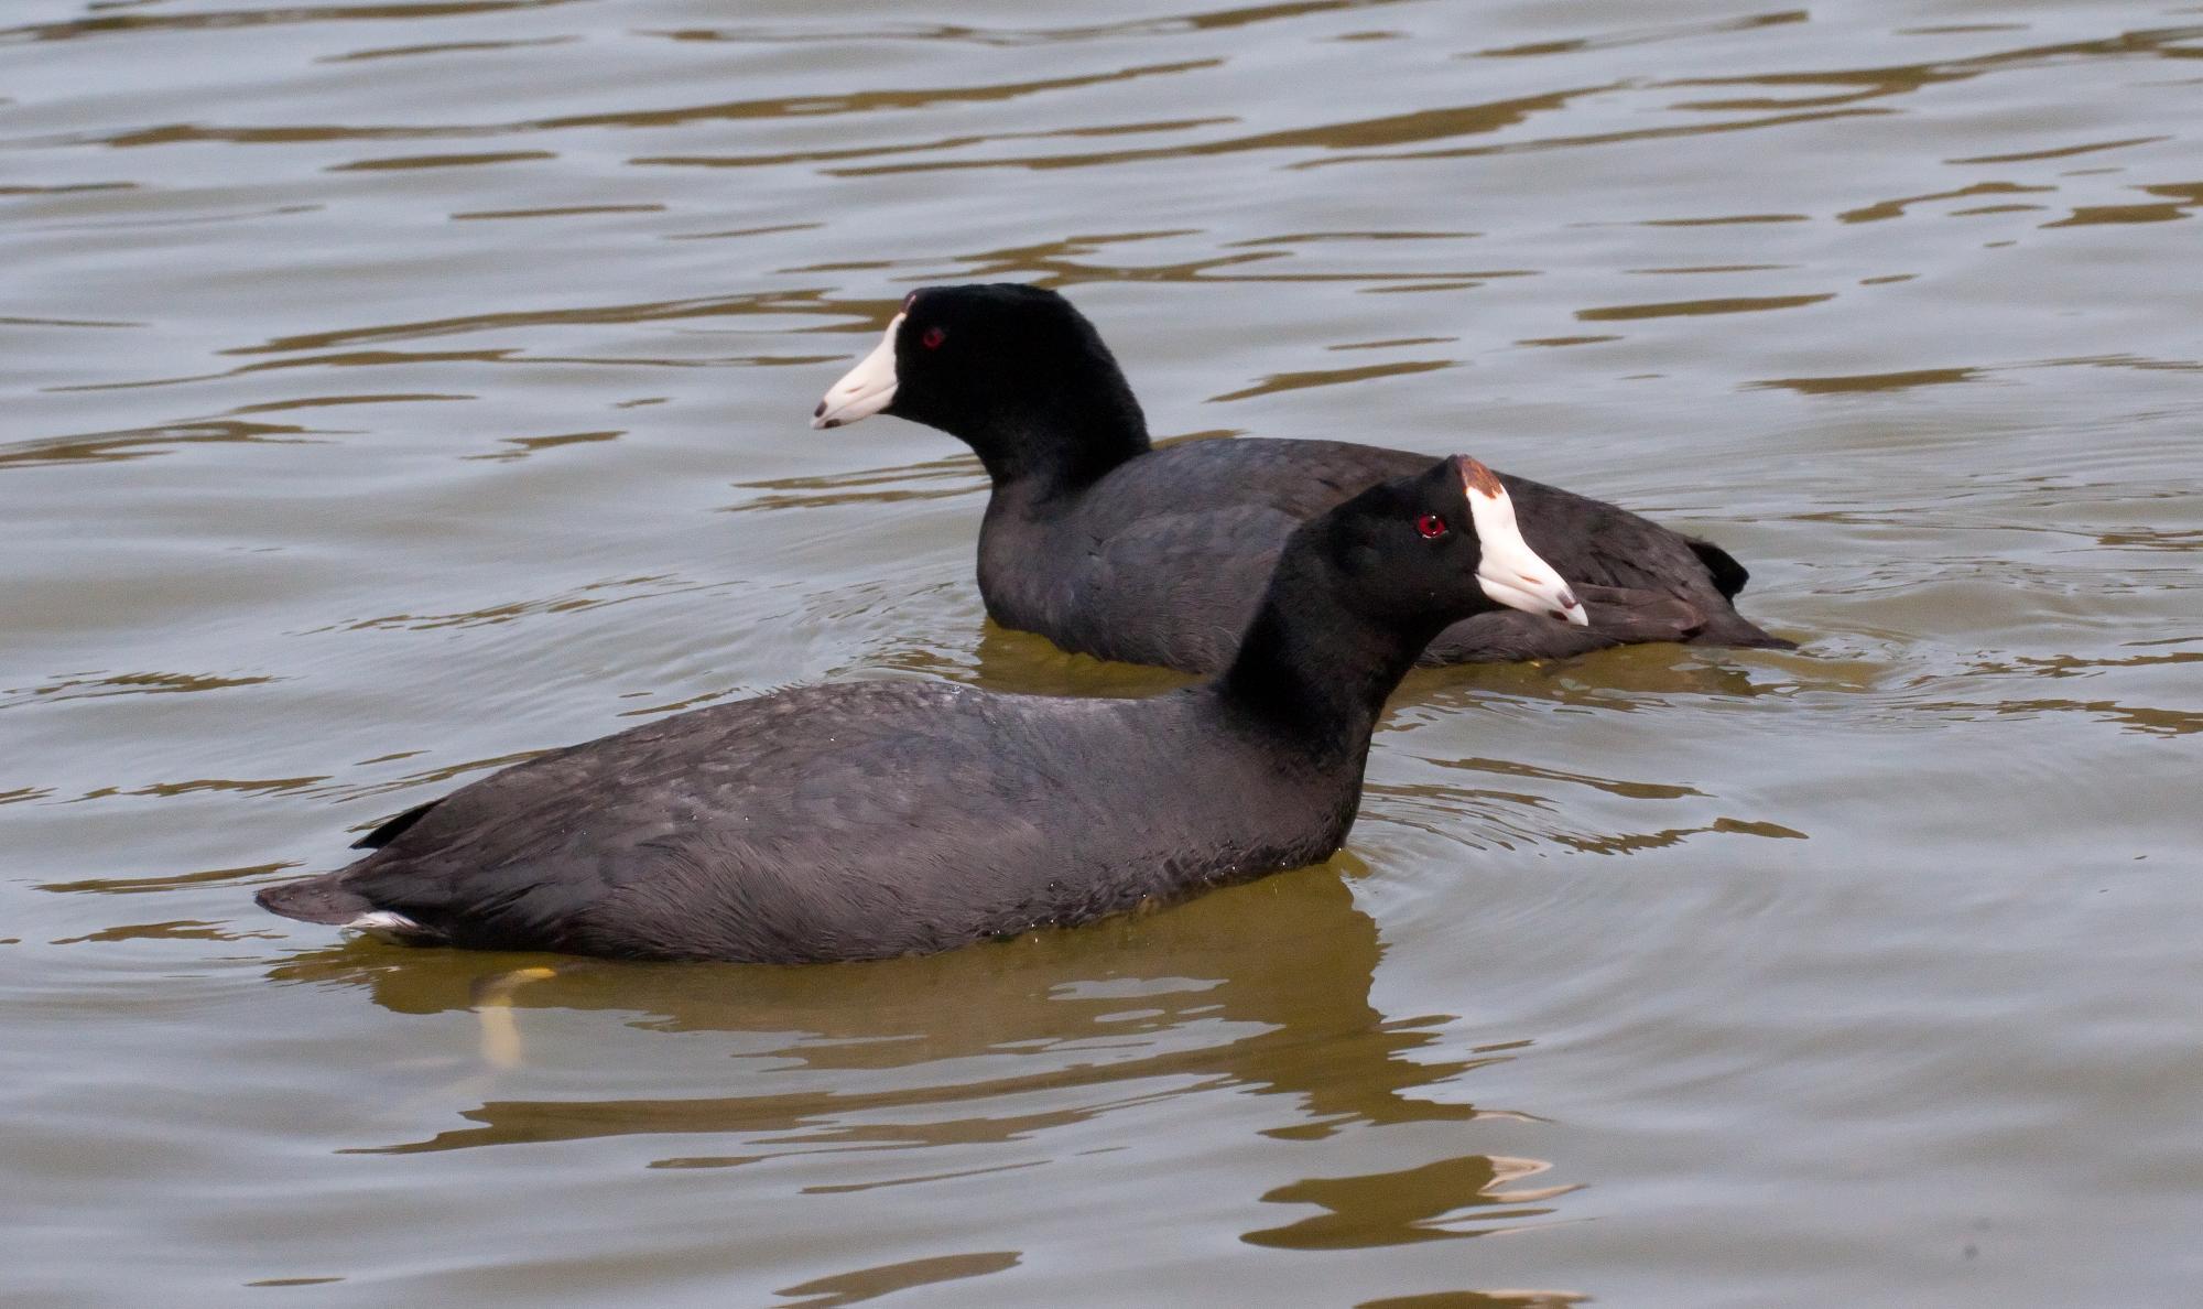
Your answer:
[[[1218,1091],[1276,1104],[1256,1128],[1273,1142],[1436,1124],[1474,1146],[1478,1119],[1535,1122],[1463,1095],[1474,1069],[1529,1042],[1447,1049],[1458,1040],[1452,1016],[1386,1018],[1372,1005],[1383,943],[1355,908],[1359,873],[1359,859],[1339,855],[1163,910],[925,959],[652,965],[352,941],[295,954],[271,978],[357,985],[399,1014],[509,1009],[493,1029],[518,1027],[498,1047],[518,1071],[573,1056],[571,1025],[557,1040],[518,1042],[531,1014],[555,1009],[610,1012],[645,1031],[725,1034],[745,1062],[769,1069],[769,1084],[758,1078],[731,1095],[485,1097],[460,1111],[471,1126],[359,1150],[377,1155],[679,1135],[718,1137],[731,1150],[663,1155],[650,1168],[954,1146],[1007,1146],[1016,1159],[998,1168],[1027,1168],[1051,1159],[1053,1137],[1073,1139],[1068,1128],[1168,1100],[1192,1108]],[[493,1071],[487,1082],[509,1075]],[[956,1161],[954,1175],[974,1172],[967,1150]],[[1547,1168],[1458,1153],[1406,1172],[1311,1177],[1260,1199],[1324,1212],[1245,1241],[1335,1250],[1478,1234],[1551,1212],[1549,1201],[1573,1188],[1520,1188]],[[892,1179],[831,1190],[927,1179],[912,1172],[949,1175],[899,1159]]]

